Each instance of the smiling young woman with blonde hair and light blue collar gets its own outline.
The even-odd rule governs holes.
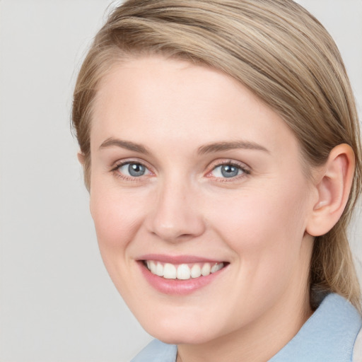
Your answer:
[[[126,1],[73,122],[105,266],[156,337],[134,361],[358,361],[358,118],[305,9]]]

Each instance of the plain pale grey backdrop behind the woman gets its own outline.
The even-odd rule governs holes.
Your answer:
[[[361,114],[362,1],[299,2],[339,45]],[[103,267],[69,127],[77,70],[112,6],[0,0],[1,362],[127,362],[151,340]]]

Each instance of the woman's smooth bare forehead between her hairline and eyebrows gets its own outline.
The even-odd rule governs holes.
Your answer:
[[[91,144],[110,137],[175,148],[221,139],[247,139],[268,148],[296,146],[284,121],[222,71],[163,57],[129,59],[100,82]],[[186,144],[184,144],[185,148]]]

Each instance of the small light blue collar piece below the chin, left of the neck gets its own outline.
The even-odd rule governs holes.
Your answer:
[[[153,339],[131,362],[175,362],[177,346]]]

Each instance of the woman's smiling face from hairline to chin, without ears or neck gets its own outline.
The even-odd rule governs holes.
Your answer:
[[[93,110],[100,252],[150,334],[203,343],[309,308],[313,192],[279,115],[220,71],[162,57],[117,64]]]

